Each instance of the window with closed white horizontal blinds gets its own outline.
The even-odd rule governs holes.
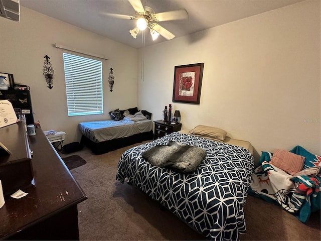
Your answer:
[[[102,62],[64,53],[68,116],[102,114]]]

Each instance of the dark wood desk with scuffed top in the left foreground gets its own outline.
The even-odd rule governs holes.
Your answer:
[[[22,189],[29,194],[21,199],[5,197],[0,239],[79,240],[77,204],[86,194],[41,129],[28,139],[34,153],[33,185]]]

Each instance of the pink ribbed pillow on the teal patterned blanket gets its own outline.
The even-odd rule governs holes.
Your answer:
[[[269,163],[293,176],[295,173],[302,170],[304,160],[305,157],[277,149],[273,153],[272,159]]]

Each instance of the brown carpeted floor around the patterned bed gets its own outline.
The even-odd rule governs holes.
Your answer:
[[[87,161],[71,171],[88,196],[78,204],[80,239],[204,240],[136,187],[115,180],[118,160],[130,147],[103,155],[92,155],[87,148],[73,153]],[[278,206],[248,196],[245,218],[241,240],[320,240],[319,212],[303,224]]]

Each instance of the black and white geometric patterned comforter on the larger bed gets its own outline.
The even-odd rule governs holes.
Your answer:
[[[190,174],[152,166],[142,158],[145,150],[169,141],[204,148],[207,157]],[[125,151],[116,180],[127,178],[208,238],[237,240],[245,232],[243,206],[252,169],[253,156],[245,148],[172,133]]]

